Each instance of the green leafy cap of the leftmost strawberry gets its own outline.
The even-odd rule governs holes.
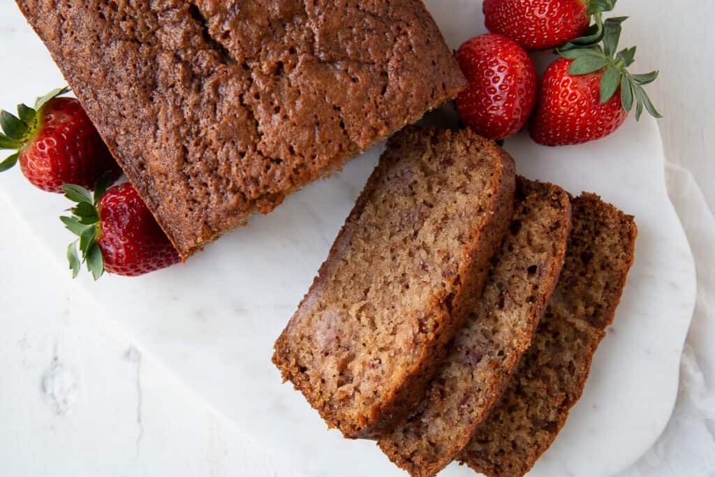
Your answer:
[[[17,116],[4,109],[0,110],[0,127],[2,129],[2,132],[0,132],[0,149],[16,151],[0,162],[0,172],[10,169],[17,163],[20,155],[19,149],[37,132],[39,127],[37,112],[41,107],[50,99],[67,92],[69,92],[69,87],[53,89],[44,96],[37,98],[34,107],[18,104]]]

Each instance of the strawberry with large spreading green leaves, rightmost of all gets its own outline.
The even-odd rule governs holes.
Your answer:
[[[625,19],[606,20],[603,47],[571,44],[559,50],[562,57],[549,65],[541,79],[529,128],[534,141],[560,146],[600,139],[621,127],[634,103],[636,119],[641,119],[644,109],[661,117],[643,88],[656,80],[658,72],[628,72],[635,46],[615,54]]]

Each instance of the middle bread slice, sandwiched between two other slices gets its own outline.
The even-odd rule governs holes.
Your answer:
[[[417,411],[380,448],[411,476],[434,476],[470,441],[531,344],[563,266],[571,204],[560,187],[517,178],[514,218],[478,306]]]

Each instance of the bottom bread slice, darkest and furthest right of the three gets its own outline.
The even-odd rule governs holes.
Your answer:
[[[596,195],[573,200],[566,262],[546,314],[460,461],[489,477],[521,477],[551,446],[581,397],[593,353],[613,321],[637,233],[633,217]]]

